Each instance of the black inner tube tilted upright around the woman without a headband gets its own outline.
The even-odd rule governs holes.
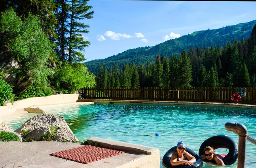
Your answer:
[[[217,136],[212,136],[212,137],[208,138],[200,146],[199,153],[198,153],[199,156],[204,155],[204,148],[207,146],[211,146],[214,149],[218,149],[218,148],[228,148],[229,149],[229,153],[227,154],[227,156],[222,158],[225,165],[234,164],[237,161],[238,146],[237,146],[236,141],[231,139],[229,136],[217,135]],[[207,162],[216,164],[216,162],[212,161],[212,160],[206,159],[203,161],[207,161]]]

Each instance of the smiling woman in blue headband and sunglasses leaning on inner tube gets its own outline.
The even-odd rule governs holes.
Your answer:
[[[186,164],[192,166],[194,162],[196,162],[196,158],[189,154],[186,150],[186,145],[183,141],[179,141],[177,143],[176,153],[173,153],[170,162],[171,165],[177,166]]]

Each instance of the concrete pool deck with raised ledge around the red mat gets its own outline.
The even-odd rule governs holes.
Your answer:
[[[159,168],[160,152],[157,148],[146,147],[113,140],[92,137],[101,147],[126,151],[120,155],[108,157],[92,163],[50,156],[50,153],[82,147],[80,143],[62,143],[57,141],[0,142],[1,168]]]

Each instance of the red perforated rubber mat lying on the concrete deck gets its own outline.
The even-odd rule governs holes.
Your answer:
[[[93,161],[101,160],[110,156],[119,155],[121,153],[125,153],[125,151],[117,151],[114,149],[86,145],[83,147],[51,153],[50,155],[76,161],[79,163],[91,163]]]

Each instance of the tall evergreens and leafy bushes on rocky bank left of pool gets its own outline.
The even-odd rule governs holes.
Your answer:
[[[0,105],[95,86],[81,63],[88,1],[1,0]]]

